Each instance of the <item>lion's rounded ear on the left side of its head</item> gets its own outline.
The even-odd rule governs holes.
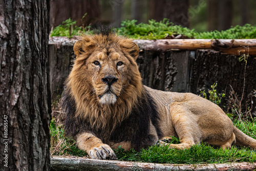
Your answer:
[[[94,47],[93,42],[90,41],[90,39],[80,39],[76,41],[74,45],[74,52],[76,56],[79,56],[80,54],[87,53],[92,50]]]

